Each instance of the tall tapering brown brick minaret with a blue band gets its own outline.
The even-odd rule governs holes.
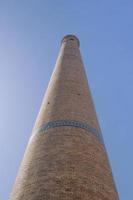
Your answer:
[[[62,39],[10,200],[118,200],[74,35]]]

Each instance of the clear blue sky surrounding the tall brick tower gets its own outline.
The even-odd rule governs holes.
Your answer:
[[[60,40],[80,39],[120,200],[133,199],[133,1],[0,0],[0,200],[7,200]]]

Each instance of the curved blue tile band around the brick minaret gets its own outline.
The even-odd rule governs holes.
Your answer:
[[[97,129],[91,127],[88,123],[83,123],[76,120],[70,120],[70,119],[62,119],[62,120],[55,120],[50,121],[42,125],[37,130],[33,131],[33,135],[36,135],[38,133],[46,132],[48,129],[55,128],[55,127],[62,127],[62,126],[72,126],[77,128],[82,128],[87,131],[87,133],[93,134],[95,137],[97,137],[98,140],[100,140],[101,143],[103,143],[102,134]]]

